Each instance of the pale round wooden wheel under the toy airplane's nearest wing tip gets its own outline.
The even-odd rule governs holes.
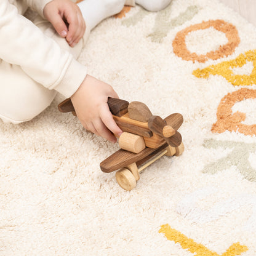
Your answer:
[[[136,180],[130,170],[122,168],[116,172],[116,181],[124,190],[130,191],[136,186]]]

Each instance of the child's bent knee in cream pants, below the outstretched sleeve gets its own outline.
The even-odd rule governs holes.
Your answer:
[[[25,122],[47,108],[57,92],[41,86],[27,76],[20,66],[0,65],[0,118],[3,121]]]

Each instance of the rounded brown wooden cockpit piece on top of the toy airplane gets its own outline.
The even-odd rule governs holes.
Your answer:
[[[131,102],[128,106],[129,118],[140,122],[148,122],[152,113],[142,102]]]

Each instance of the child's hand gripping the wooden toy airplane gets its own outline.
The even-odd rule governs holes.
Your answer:
[[[118,95],[109,84],[87,74],[71,96],[71,102],[85,129],[114,143],[116,137],[113,134],[121,135],[122,130],[114,122],[107,103],[108,97],[118,98]]]

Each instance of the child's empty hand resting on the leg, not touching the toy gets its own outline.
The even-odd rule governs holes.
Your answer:
[[[71,0],[53,0],[44,7],[44,17],[54,26],[57,33],[74,47],[86,31],[81,10]]]

